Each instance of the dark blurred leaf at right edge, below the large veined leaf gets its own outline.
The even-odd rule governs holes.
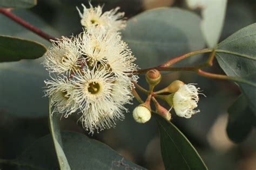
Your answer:
[[[244,140],[253,128],[254,119],[245,96],[240,95],[228,109],[228,137],[237,143]]]

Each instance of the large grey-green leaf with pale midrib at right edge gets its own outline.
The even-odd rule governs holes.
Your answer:
[[[228,76],[238,77],[238,84],[256,115],[256,24],[241,29],[217,46],[220,67]]]

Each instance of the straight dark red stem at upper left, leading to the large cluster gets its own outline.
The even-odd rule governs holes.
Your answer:
[[[49,34],[46,34],[45,32],[43,32],[42,30],[38,29],[37,27],[29,24],[28,22],[26,22],[22,18],[19,18],[18,16],[14,15],[8,9],[0,9],[0,13],[3,13],[3,15],[5,15],[6,17],[9,17],[10,19],[14,20],[16,23],[24,26],[26,29],[29,29],[32,32],[35,32],[36,34],[38,34],[38,36],[40,36],[40,37],[42,37],[42,38],[44,38],[44,39],[46,39],[48,41],[50,41],[50,40],[57,40],[56,38],[51,37]]]

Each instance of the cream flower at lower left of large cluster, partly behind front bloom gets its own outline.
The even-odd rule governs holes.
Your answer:
[[[68,79],[58,77],[44,82],[48,86],[45,94],[51,97],[52,114],[57,112],[68,117],[79,108],[79,104],[73,99],[75,87]]]

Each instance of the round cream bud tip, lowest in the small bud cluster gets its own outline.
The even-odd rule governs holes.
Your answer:
[[[138,107],[133,110],[132,116],[136,122],[145,123],[150,120],[151,111],[143,105],[138,105]]]

